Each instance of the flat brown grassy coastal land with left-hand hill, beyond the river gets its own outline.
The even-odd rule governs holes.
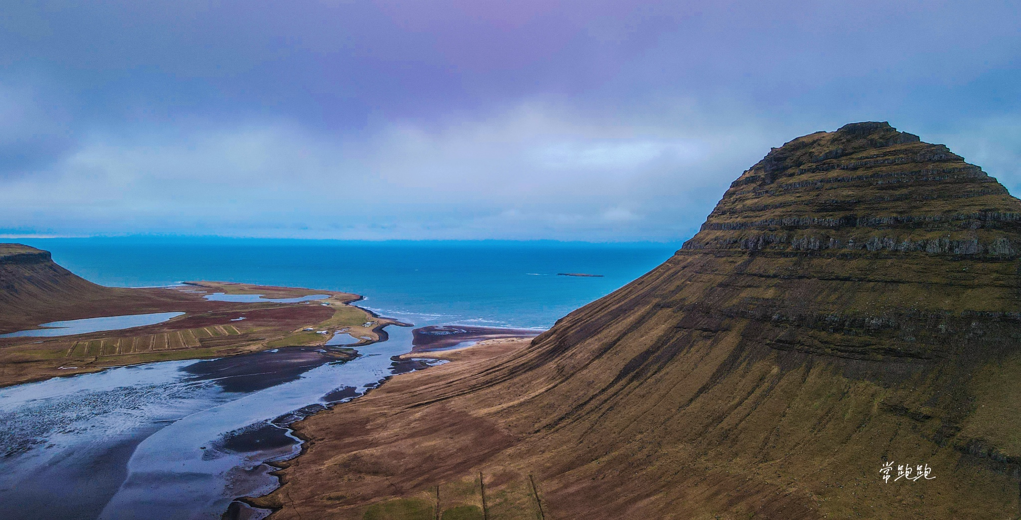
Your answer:
[[[0,245],[0,281],[8,285],[0,295],[0,333],[62,320],[184,312],[157,324],[120,330],[0,339],[0,387],[156,361],[322,347],[337,331],[363,337],[345,346],[356,348],[385,341],[386,325],[405,325],[352,305],[361,300],[358,295],[335,291],[224,281],[106,288],[58,266],[49,253],[21,245]],[[297,303],[204,298],[214,293],[272,299],[328,298]]]

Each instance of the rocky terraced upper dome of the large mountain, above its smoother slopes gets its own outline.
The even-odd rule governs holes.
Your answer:
[[[859,122],[774,148],[731,184],[685,249],[1004,257],[1015,254],[1019,209],[946,147]]]

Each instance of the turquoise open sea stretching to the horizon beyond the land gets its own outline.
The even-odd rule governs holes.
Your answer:
[[[546,328],[644,274],[676,244],[35,239],[60,265],[105,285],[243,281],[346,291],[380,314]],[[602,277],[557,276],[561,272]]]

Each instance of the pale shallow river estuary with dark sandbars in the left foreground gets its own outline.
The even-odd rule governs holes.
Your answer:
[[[0,504],[18,519],[217,519],[277,485],[263,461],[299,449],[281,425],[425,366],[392,362],[411,329],[387,331],[346,363],[281,349],[0,388]]]

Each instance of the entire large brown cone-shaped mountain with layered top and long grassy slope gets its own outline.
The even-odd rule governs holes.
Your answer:
[[[307,420],[260,504],[397,518],[478,478],[491,519],[1016,518],[1019,258],[1021,201],[945,147],[805,136],[527,348]]]

